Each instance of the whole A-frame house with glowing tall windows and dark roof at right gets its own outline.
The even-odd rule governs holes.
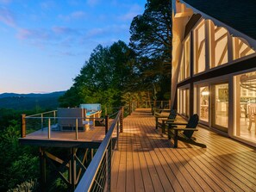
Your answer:
[[[256,3],[172,1],[172,105],[256,146]],[[253,107],[254,106],[254,107]]]

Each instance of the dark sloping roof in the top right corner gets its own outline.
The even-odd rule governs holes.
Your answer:
[[[184,2],[256,40],[255,0],[184,0]]]

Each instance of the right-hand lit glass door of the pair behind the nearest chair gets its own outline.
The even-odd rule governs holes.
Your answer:
[[[212,91],[213,127],[228,133],[228,84],[215,84]]]

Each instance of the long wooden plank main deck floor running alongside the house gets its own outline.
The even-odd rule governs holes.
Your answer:
[[[149,110],[124,119],[112,161],[111,191],[256,191],[256,149],[199,127],[206,149],[155,129]]]

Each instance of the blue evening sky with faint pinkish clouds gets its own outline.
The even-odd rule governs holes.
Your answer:
[[[128,43],[147,0],[0,0],[0,93],[68,90],[98,45]]]

